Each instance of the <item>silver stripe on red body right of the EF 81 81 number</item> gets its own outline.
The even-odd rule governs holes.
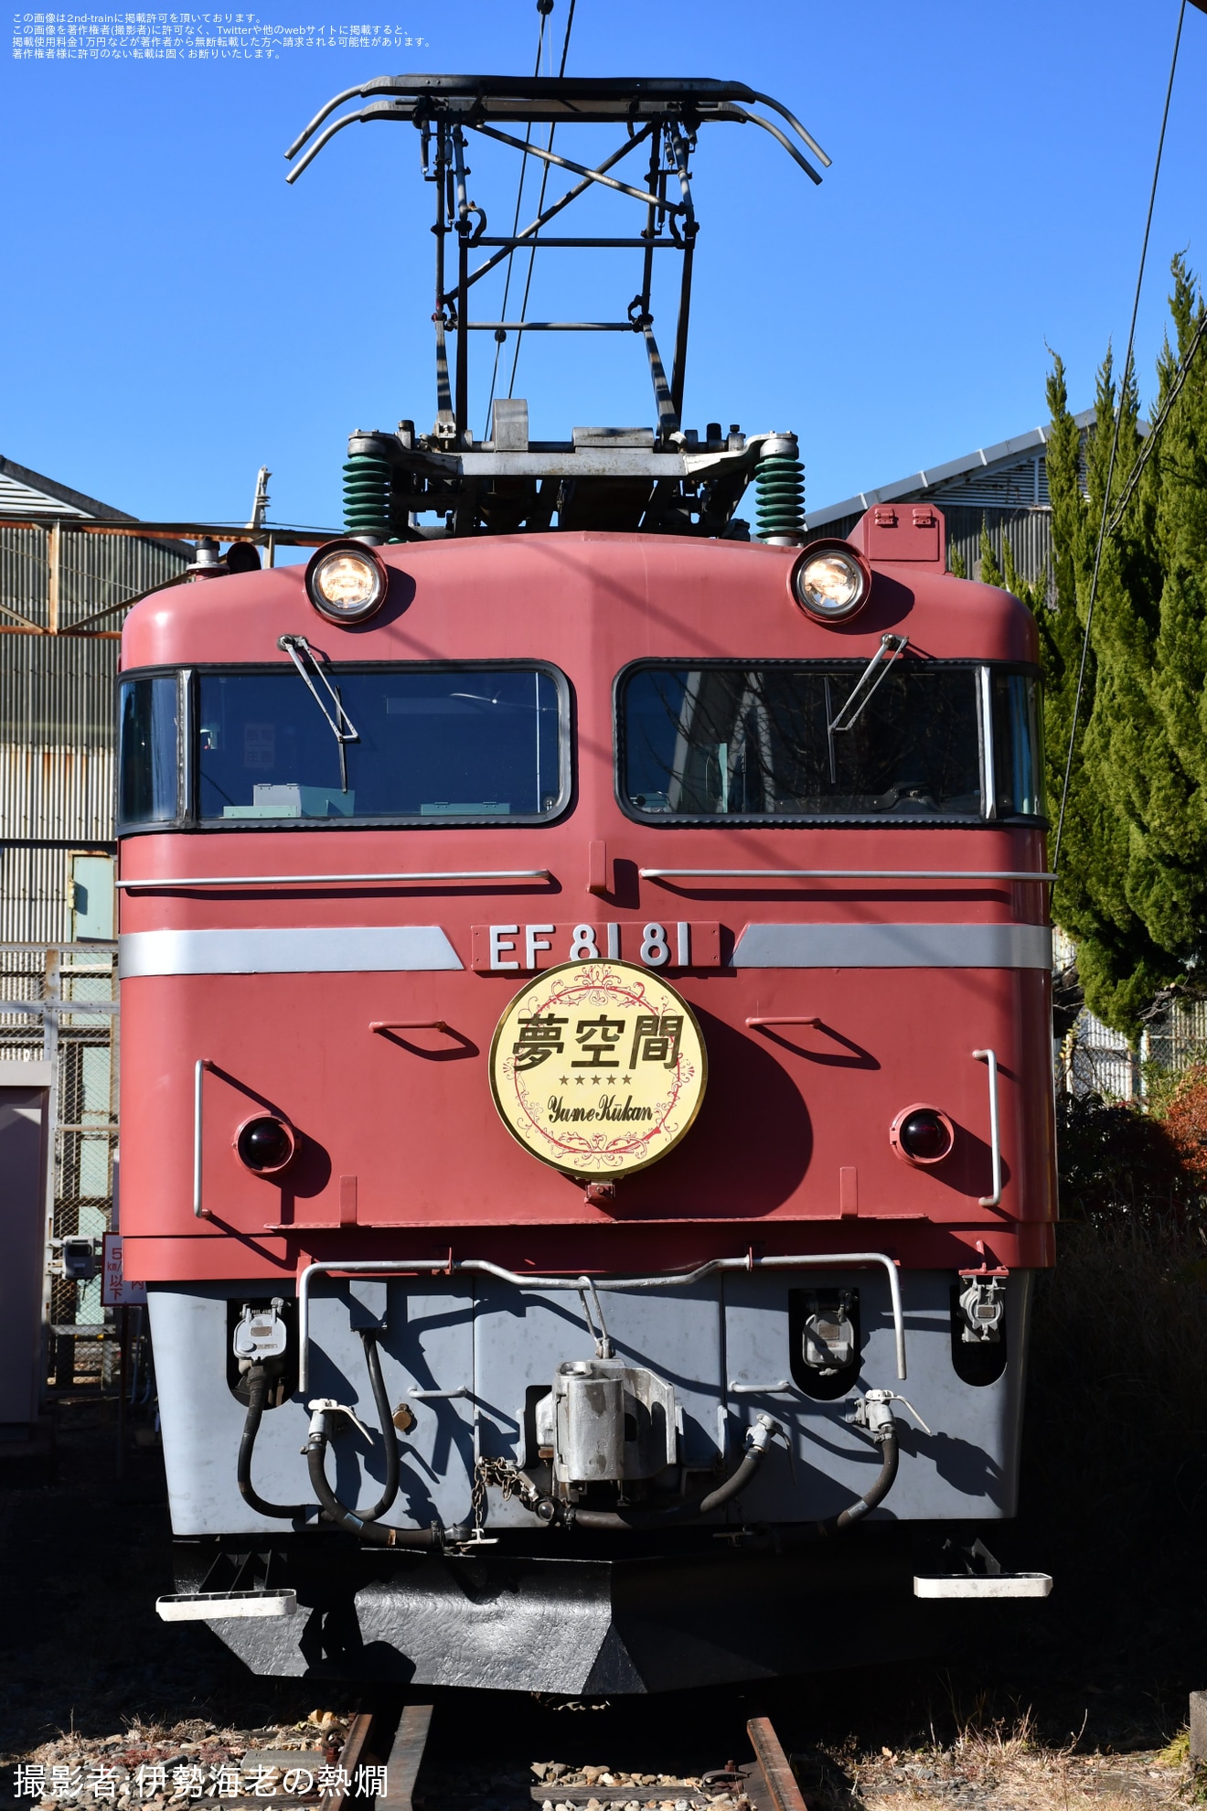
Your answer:
[[[735,969],[1051,969],[1042,924],[747,924]]]

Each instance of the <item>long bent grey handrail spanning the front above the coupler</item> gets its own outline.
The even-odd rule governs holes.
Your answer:
[[[889,1257],[887,1251],[809,1251],[798,1257],[713,1257],[706,1264],[697,1264],[695,1270],[662,1270],[651,1271],[648,1277],[588,1277],[586,1280],[595,1289],[668,1289],[684,1288],[693,1282],[700,1282],[704,1277],[711,1277],[717,1271],[733,1270],[838,1270],[843,1264],[879,1264],[889,1277],[889,1297],[892,1300],[892,1335],[896,1344],[898,1358],[898,1378],[905,1378],[905,1315],[901,1311],[901,1282],[898,1277],[898,1266]],[[583,1277],[527,1277],[518,1275],[514,1270],[503,1270],[501,1264],[492,1264],[485,1257],[418,1257],[418,1259],[344,1259],[306,1264],[297,1279],[297,1338],[299,1338],[299,1362],[297,1362],[297,1387],[299,1394],[306,1396],[309,1389],[309,1286],[318,1275],[376,1275],[376,1277],[405,1277],[414,1271],[425,1271],[429,1275],[443,1273],[445,1277],[460,1271],[474,1271],[483,1277],[498,1277],[501,1282],[512,1282],[519,1289],[566,1289],[575,1295],[583,1289]]]

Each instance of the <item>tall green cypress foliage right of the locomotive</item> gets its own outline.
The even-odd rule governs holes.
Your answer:
[[[1158,364],[1158,400],[1202,313],[1174,259],[1176,350]],[[1111,509],[1140,453],[1135,377],[1117,395],[1098,373],[1095,431],[1079,484],[1079,433],[1064,368],[1048,380],[1053,608],[1035,610],[1048,694],[1048,782],[1059,806],[1080,645],[1118,409]],[[1131,1036],[1155,992],[1207,954],[1207,384],[1193,371],[1120,527],[1102,551],[1064,822],[1057,922],[1077,938],[1086,1001]]]

